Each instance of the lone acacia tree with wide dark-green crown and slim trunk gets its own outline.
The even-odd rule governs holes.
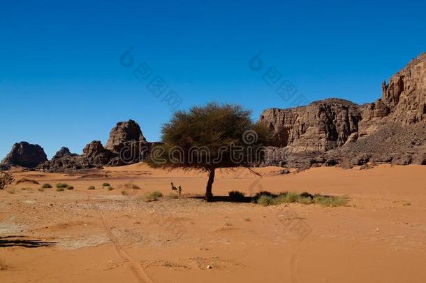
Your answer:
[[[242,166],[251,170],[263,160],[269,132],[264,124],[252,122],[251,111],[242,106],[209,103],[176,112],[163,125],[162,141],[163,145],[152,148],[147,163],[207,172],[205,198],[212,201],[216,169]]]

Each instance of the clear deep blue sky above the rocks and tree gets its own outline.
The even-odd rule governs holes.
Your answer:
[[[274,66],[310,101],[374,101],[426,51],[425,1],[1,1],[0,158],[27,140],[81,153],[135,119],[158,140],[171,112],[132,74],[145,61],[183,100],[286,108]],[[120,56],[133,46],[133,66]],[[259,72],[249,60],[263,51]],[[152,77],[153,78],[153,77]]]

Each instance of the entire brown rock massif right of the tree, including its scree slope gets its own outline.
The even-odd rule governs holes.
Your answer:
[[[407,137],[414,138],[411,133],[425,131],[426,53],[409,62],[389,83],[383,82],[382,97],[374,103],[357,105],[342,99],[325,99],[298,108],[267,109],[260,115],[260,122],[265,123],[273,136],[273,147],[267,150],[265,165],[354,166],[367,160],[363,158],[367,152],[377,162],[423,164],[425,135],[418,133],[416,142]],[[413,124],[420,126],[410,126]],[[388,140],[375,134],[385,126],[389,133],[395,133],[388,135]],[[367,139],[369,136],[372,138]],[[361,142],[364,139],[369,142]],[[399,140],[404,143],[401,145]],[[413,148],[411,143],[418,146]],[[362,147],[358,147],[360,144]],[[385,154],[385,144],[398,147],[387,149],[395,157],[381,160],[379,152]],[[415,158],[404,157],[408,155]],[[349,161],[350,158],[359,162]],[[398,161],[401,159],[405,161]]]

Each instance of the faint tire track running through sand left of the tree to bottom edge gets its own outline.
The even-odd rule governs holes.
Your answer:
[[[94,210],[98,212],[98,215],[101,217],[102,226],[108,234],[108,238],[110,238],[111,242],[114,244],[115,250],[119,257],[128,262],[128,269],[131,271],[135,280],[139,283],[154,283],[151,279],[149,279],[147,273],[142,269],[142,267],[136,263],[131,256],[127,254],[127,252],[119,245],[118,238],[112,233],[110,230],[110,225],[108,225],[108,220],[105,218],[101,210],[98,206],[93,205]]]

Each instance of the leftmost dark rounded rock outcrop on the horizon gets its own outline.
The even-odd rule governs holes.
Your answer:
[[[27,142],[20,142],[13,145],[12,150],[1,161],[1,164],[4,166],[34,168],[44,161],[47,161],[47,157],[43,147],[40,145],[31,145]]]

